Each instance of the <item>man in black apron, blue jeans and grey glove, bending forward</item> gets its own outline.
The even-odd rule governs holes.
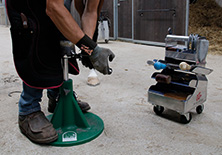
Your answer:
[[[7,0],[6,4],[15,67],[23,80],[19,128],[35,143],[51,143],[58,135],[39,102],[43,89],[59,88],[63,83],[61,33],[84,51],[93,67],[104,75],[110,74],[108,59],[112,61],[115,55],[80,29],[64,0]]]

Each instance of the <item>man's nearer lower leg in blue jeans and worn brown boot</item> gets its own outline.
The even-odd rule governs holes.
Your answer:
[[[31,141],[47,144],[55,141],[58,135],[41,111],[39,102],[41,102],[42,91],[23,83],[23,92],[19,100],[19,128]]]

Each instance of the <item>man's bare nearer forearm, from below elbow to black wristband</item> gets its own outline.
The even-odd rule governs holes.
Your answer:
[[[47,0],[46,13],[60,32],[76,44],[85,34],[70,12],[64,6],[64,0]]]

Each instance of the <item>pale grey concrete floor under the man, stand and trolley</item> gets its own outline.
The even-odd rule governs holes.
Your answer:
[[[100,44],[110,48],[115,60],[111,76],[99,74],[101,84],[86,84],[89,70],[71,76],[74,90],[81,100],[90,103],[91,112],[100,116],[104,132],[95,140],[73,147],[40,146],[30,142],[18,128],[18,99],[22,88],[13,65],[8,27],[0,27],[0,154],[222,154],[222,56],[208,55],[208,100],[205,109],[187,125],[178,123],[179,115],[166,110],[164,117],[153,112],[147,102],[147,90],[155,83],[155,71],[146,64],[150,59],[163,59],[164,48],[118,41]],[[14,92],[14,93],[13,93]],[[8,95],[11,94],[11,97]],[[47,97],[41,102],[47,112]]]

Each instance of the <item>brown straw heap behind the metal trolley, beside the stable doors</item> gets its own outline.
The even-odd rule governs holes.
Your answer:
[[[190,4],[189,33],[205,36],[209,53],[222,55],[222,8],[214,0]]]

